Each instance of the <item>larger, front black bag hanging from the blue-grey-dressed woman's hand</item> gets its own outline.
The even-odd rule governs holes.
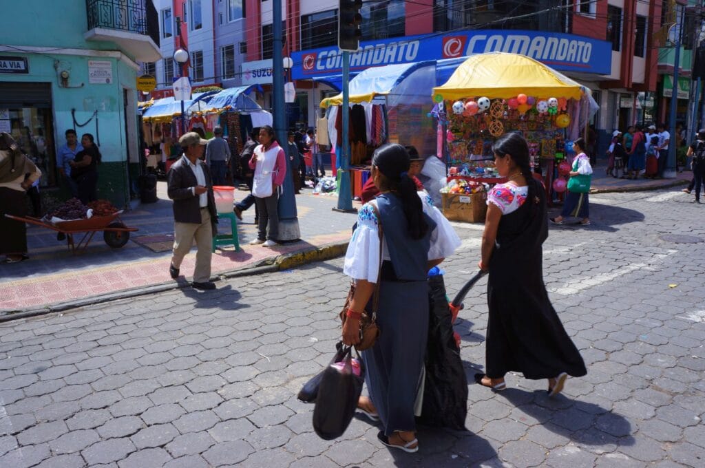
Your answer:
[[[316,406],[313,410],[313,429],[324,441],[343,435],[357,408],[357,400],[364,383],[364,364],[360,362],[360,375],[353,373],[352,347],[343,350],[343,369],[326,367],[321,376]]]

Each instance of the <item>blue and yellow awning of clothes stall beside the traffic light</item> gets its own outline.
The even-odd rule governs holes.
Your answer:
[[[383,96],[419,68],[433,66],[434,61],[416,63],[395,63],[382,67],[367,68],[350,81],[350,102],[372,101]],[[343,104],[343,94],[321,101],[321,107]]]

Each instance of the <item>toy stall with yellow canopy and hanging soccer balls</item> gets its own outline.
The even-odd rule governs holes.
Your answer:
[[[463,193],[472,192],[478,183],[503,182],[494,168],[492,144],[515,131],[529,142],[532,168],[542,174],[550,200],[556,161],[565,158],[566,148],[597,110],[589,90],[518,54],[479,54],[439,69],[455,66],[431,94],[432,113],[447,128],[438,133],[437,143],[446,154],[448,190],[458,193],[458,185],[464,185]]]

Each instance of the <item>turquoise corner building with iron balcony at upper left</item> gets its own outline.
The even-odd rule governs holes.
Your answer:
[[[73,128],[99,144],[98,196],[128,205],[140,168],[137,62],[160,56],[151,0],[10,2],[0,30],[0,131],[42,169],[40,190],[66,195],[56,150]]]

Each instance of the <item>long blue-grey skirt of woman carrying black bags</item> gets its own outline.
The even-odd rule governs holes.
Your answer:
[[[384,434],[415,431],[414,403],[429,333],[427,281],[382,281],[374,346],[362,352],[369,398],[384,425]],[[368,309],[372,310],[372,303]]]

